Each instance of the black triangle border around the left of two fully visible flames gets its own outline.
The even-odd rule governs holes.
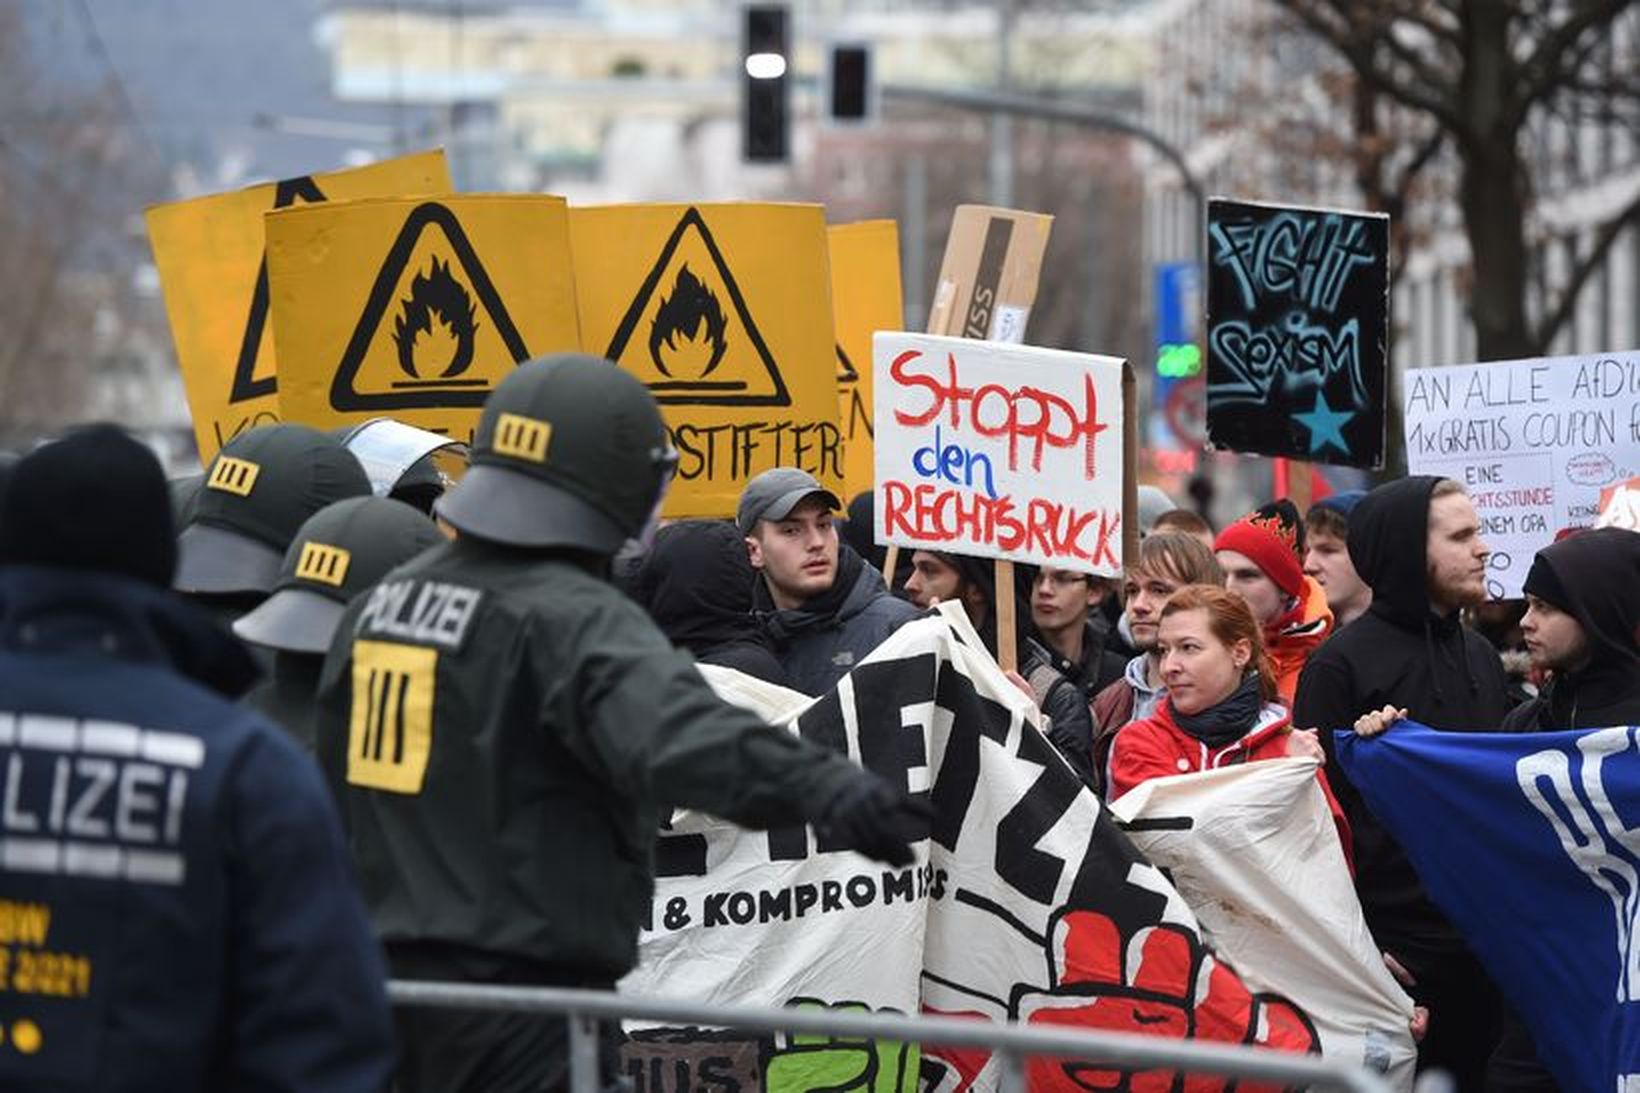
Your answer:
[[[387,305],[394,302],[394,290],[399,287],[399,277],[403,276],[405,266],[410,263],[410,251],[415,249],[421,233],[430,225],[443,228],[444,238],[449,240],[449,246],[456,254],[456,261],[461,263],[461,269],[472,282],[474,294],[477,294],[479,302],[490,317],[490,322],[495,323],[495,332],[507,345],[507,351],[512,353],[513,364],[523,364],[530,359],[530,350],[525,348],[523,338],[518,336],[518,328],[513,327],[512,317],[507,313],[502,297],[495,292],[495,286],[490,282],[489,272],[485,272],[484,264],[472,249],[472,243],[467,241],[467,233],[461,230],[461,222],[456,220],[456,215],[444,205],[440,205],[438,202],[421,202],[410,210],[408,217],[405,217],[403,226],[399,228],[399,238],[395,238],[394,245],[387,249],[387,258],[382,259],[382,268],[376,274],[376,284],[371,287],[371,295],[364,302],[364,312],[359,313],[359,323],[353,328],[353,338],[348,340],[348,348],[343,351],[341,361],[336,364],[336,374],[330,381],[331,409],[417,410],[482,407],[484,400],[489,397],[490,392],[485,389],[389,391],[380,394],[361,394],[353,386],[353,381],[359,374],[359,366],[364,364],[364,354],[371,350],[371,340],[382,325]]]

